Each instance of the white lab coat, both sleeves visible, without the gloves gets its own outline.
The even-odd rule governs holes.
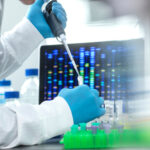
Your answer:
[[[0,42],[0,79],[14,72],[44,40],[24,18]],[[73,124],[69,105],[62,97],[41,105],[11,104],[0,107],[0,149],[34,145],[62,134]]]

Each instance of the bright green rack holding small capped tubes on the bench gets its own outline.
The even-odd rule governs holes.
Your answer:
[[[60,143],[65,149],[150,147],[149,128],[109,128],[106,132],[105,128],[100,128],[101,123],[86,126],[84,123],[73,125],[71,131],[64,134]]]

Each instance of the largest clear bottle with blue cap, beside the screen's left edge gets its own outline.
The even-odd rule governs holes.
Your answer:
[[[38,69],[26,69],[26,79],[21,87],[22,103],[39,104]]]

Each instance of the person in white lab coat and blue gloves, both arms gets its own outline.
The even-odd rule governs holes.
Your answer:
[[[34,4],[16,27],[1,36],[0,79],[19,68],[41,41],[53,37],[41,12],[43,1],[20,1]],[[52,11],[65,27],[67,19],[62,6],[55,2]],[[74,123],[88,122],[103,115],[103,102],[98,91],[83,85],[63,89],[54,101],[41,105],[11,104],[0,107],[0,149],[40,144],[63,134]]]

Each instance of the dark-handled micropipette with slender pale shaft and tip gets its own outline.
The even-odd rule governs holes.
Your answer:
[[[57,39],[60,39],[59,41],[64,45],[67,53],[68,53],[68,56],[72,62],[72,65],[78,75],[78,84],[79,85],[83,85],[83,78],[82,76],[80,76],[79,74],[79,71],[78,71],[78,68],[77,68],[77,65],[74,61],[74,58],[71,54],[71,51],[69,49],[69,46],[66,42],[66,35],[65,35],[65,31],[62,27],[62,24],[60,23],[60,21],[56,18],[56,16],[53,14],[52,12],[52,3],[53,2],[56,2],[56,0],[44,0],[44,2],[46,3],[46,5],[44,6],[45,8],[42,10],[43,11],[43,14],[44,14],[44,17],[48,23],[48,25],[50,26],[54,36],[57,38]]]

